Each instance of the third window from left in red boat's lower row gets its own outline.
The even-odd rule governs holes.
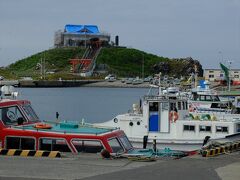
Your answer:
[[[78,152],[98,153],[104,149],[102,143],[99,140],[74,139],[72,140],[72,144]]]

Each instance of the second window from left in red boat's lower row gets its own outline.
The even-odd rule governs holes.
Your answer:
[[[71,152],[65,139],[41,138],[39,141],[40,150]]]

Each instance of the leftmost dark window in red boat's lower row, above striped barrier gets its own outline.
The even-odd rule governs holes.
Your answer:
[[[30,137],[6,137],[6,149],[35,150],[35,139]]]

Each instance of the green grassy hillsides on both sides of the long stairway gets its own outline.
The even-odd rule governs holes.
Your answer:
[[[24,76],[31,76],[34,79],[40,78],[41,59],[45,59],[45,69],[48,73],[46,79],[81,79],[81,77],[72,75],[70,72],[71,65],[69,59],[81,58],[84,48],[56,48],[43,52],[39,52],[25,59],[19,60],[9,65],[0,73],[5,74],[8,78],[20,78]],[[153,75],[159,73],[169,74],[171,76],[186,75],[188,71],[193,69],[193,59],[169,59],[159,57],[153,54],[137,49],[128,48],[102,48],[98,58],[97,65],[104,64],[107,66],[108,73],[114,73],[118,76],[142,76],[142,69],[144,67],[144,74]],[[201,65],[199,63],[199,68]],[[104,76],[104,75],[102,75]],[[101,77],[100,77],[101,78]]]

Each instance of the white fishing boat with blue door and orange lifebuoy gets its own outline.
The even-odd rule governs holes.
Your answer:
[[[187,151],[200,149],[207,136],[219,139],[240,132],[239,115],[234,118],[226,118],[227,114],[225,118],[206,118],[207,114],[203,115],[193,118],[186,95],[173,89],[161,92],[159,88],[157,94],[145,95],[140,105],[134,104],[132,111],[117,115],[101,125],[120,128],[136,147],[156,140],[157,148]]]

